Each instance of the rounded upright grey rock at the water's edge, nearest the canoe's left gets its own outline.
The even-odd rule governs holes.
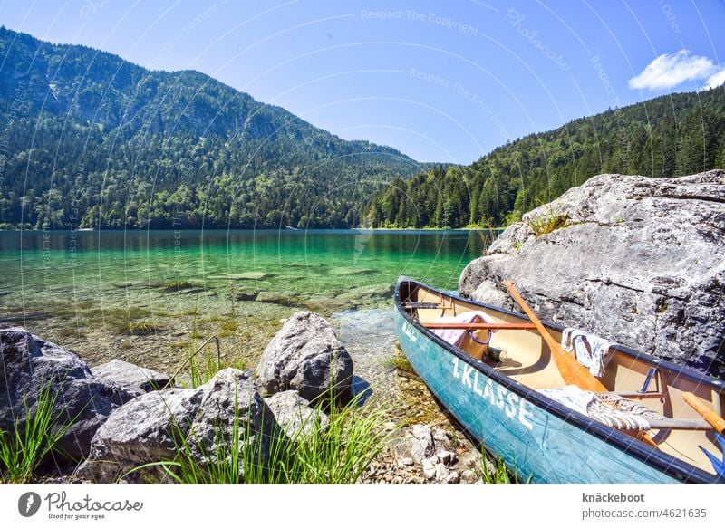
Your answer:
[[[296,312],[267,345],[256,373],[266,394],[295,389],[314,401],[332,389],[344,400],[350,398],[353,359],[329,322],[314,312]]]

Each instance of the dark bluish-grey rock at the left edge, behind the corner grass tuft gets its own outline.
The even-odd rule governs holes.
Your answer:
[[[12,431],[25,406],[34,408],[39,390],[49,384],[57,426],[72,423],[58,447],[56,462],[88,456],[91,439],[114,408],[138,396],[98,379],[78,356],[20,327],[0,329],[0,430]]]

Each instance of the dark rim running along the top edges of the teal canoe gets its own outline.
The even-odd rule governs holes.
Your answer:
[[[430,331],[429,329],[425,328],[420,321],[416,320],[415,318],[411,317],[411,315],[406,312],[402,306],[401,306],[401,298],[400,298],[400,290],[401,290],[401,284],[402,283],[412,283],[419,285],[426,290],[432,292],[432,293],[439,293],[442,295],[445,295],[453,300],[458,300],[460,302],[466,302],[469,304],[474,304],[481,306],[483,308],[487,308],[489,310],[492,310],[494,312],[504,313],[510,316],[517,317],[518,319],[521,319],[523,321],[528,321],[528,318],[525,315],[522,315],[517,312],[512,312],[510,310],[507,310],[505,308],[500,308],[498,306],[494,306],[492,304],[488,304],[486,302],[477,302],[473,301],[471,299],[464,299],[460,297],[459,295],[444,292],[438,288],[435,288],[433,286],[430,286],[425,283],[420,283],[420,281],[417,281],[415,279],[411,279],[410,277],[401,276],[398,278],[398,282],[395,285],[395,294],[394,294],[394,303],[395,308],[398,312],[401,313],[402,317],[405,319],[406,322],[411,323],[411,325],[420,333],[423,334],[423,337],[429,338],[431,341],[433,341],[435,344],[437,344],[440,348],[443,350],[446,350],[447,352],[453,354],[455,357],[457,357],[459,360],[463,360],[472,367],[474,367],[476,370],[484,374],[485,376],[488,376],[488,378],[493,379],[500,385],[503,385],[506,389],[509,389],[513,392],[515,392],[519,397],[526,399],[527,401],[531,402],[532,405],[535,405],[537,408],[542,409],[545,412],[549,412],[556,416],[557,418],[561,418],[565,420],[567,423],[572,423],[575,425],[575,427],[578,427],[579,429],[583,430],[585,433],[588,433],[594,437],[597,437],[601,440],[604,440],[604,442],[613,445],[617,447],[618,449],[621,449],[625,451],[626,453],[631,453],[633,456],[635,456],[637,459],[642,461],[647,466],[652,466],[653,468],[657,469],[658,471],[661,471],[665,475],[672,476],[672,478],[681,481],[682,483],[700,483],[700,484],[714,484],[714,483],[725,483],[725,478],[719,476],[719,475],[711,475],[710,473],[707,473],[706,471],[700,469],[699,467],[692,466],[691,464],[676,458],[675,456],[668,455],[666,453],[662,453],[662,451],[659,451],[657,449],[654,449],[651,446],[645,446],[643,442],[636,440],[633,437],[630,437],[626,434],[624,434],[622,431],[615,429],[614,427],[608,427],[604,424],[597,422],[593,418],[588,418],[585,415],[576,412],[573,409],[567,408],[565,405],[557,402],[555,399],[548,398],[545,395],[538,392],[536,389],[531,389],[521,383],[520,381],[517,381],[516,379],[511,379],[507,377],[506,375],[498,372],[498,370],[494,369],[487,363],[483,361],[476,360],[469,354],[467,354],[465,351],[460,350],[459,347],[449,343],[448,341],[445,341],[441,339],[437,334],[435,334],[433,331]],[[544,325],[547,328],[554,329],[556,331],[563,331],[564,327],[560,324],[551,323],[543,321]],[[723,387],[725,387],[725,382],[722,382],[718,379],[714,379],[706,374],[701,374],[695,370],[691,370],[687,367],[682,367],[681,365],[676,365],[675,363],[672,363],[667,360],[659,360],[657,358],[654,358],[651,354],[647,354],[645,352],[639,351],[639,350],[633,350],[629,347],[625,347],[623,345],[616,345],[613,346],[614,350],[618,350],[620,352],[623,352],[624,354],[635,358],[639,360],[644,360],[645,362],[652,363],[657,366],[661,366],[662,368],[671,369],[676,376],[673,379],[678,379],[680,375],[682,375],[685,379],[690,379],[693,381],[696,381],[700,384],[706,385],[713,389],[719,389],[720,392],[723,391]],[[704,380],[703,380],[704,378]],[[426,385],[428,385],[426,383]],[[429,386],[430,388],[430,386]],[[433,390],[432,388],[430,388]],[[435,392],[435,390],[433,390]]]

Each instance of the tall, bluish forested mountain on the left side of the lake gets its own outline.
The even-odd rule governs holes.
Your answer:
[[[346,227],[427,165],[199,72],[0,28],[0,226]]]

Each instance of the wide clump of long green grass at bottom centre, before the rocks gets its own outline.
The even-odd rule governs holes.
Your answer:
[[[139,466],[131,472],[161,469],[166,477],[162,480],[184,484],[355,483],[391,435],[382,432],[390,410],[361,408],[360,397],[343,407],[331,403],[328,427],[314,420],[306,432],[303,427],[293,438],[271,438],[266,463],[259,455],[262,435],[253,435],[248,429],[251,420],[235,417],[229,437],[218,427],[213,452],[204,449],[193,432],[177,435],[174,460]],[[242,441],[242,437],[254,440]]]

